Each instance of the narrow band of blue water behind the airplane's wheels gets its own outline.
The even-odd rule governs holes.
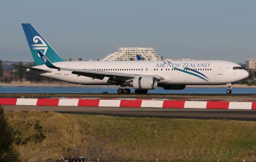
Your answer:
[[[117,93],[117,86],[108,87],[30,87],[30,86],[0,86],[0,93]],[[130,88],[134,92],[133,88]],[[185,88],[184,90],[164,90],[156,88],[148,93],[161,94],[226,94],[227,88]],[[256,94],[256,88],[233,88],[232,94]]]

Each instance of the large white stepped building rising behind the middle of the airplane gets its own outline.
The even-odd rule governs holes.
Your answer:
[[[161,60],[152,47],[119,47],[116,52],[109,54],[100,61],[137,60],[136,54],[139,54],[145,60]]]

